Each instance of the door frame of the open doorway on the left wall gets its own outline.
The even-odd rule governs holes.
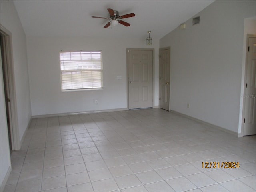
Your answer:
[[[12,54],[12,34],[4,26],[0,25],[0,33],[4,36],[4,46],[6,52],[5,62],[2,63],[5,68],[6,77],[8,79],[8,90],[10,93],[10,108],[9,108],[9,118],[10,118],[10,132],[11,132],[11,142],[12,150],[20,149],[20,134],[18,128],[18,113],[17,113],[17,103],[16,103],[16,89],[15,89],[15,79],[14,79],[14,62]],[[2,59],[2,58],[1,58]],[[7,72],[6,72],[7,71]]]

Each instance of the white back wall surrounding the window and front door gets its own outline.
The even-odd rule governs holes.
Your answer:
[[[27,48],[32,116],[38,116],[127,108],[126,48],[154,48],[158,55],[159,40],[146,46],[146,36],[143,40],[27,37]],[[60,50],[102,50],[104,89],[61,92]],[[116,76],[122,76],[122,80]],[[155,57],[156,106],[157,98],[158,57]]]

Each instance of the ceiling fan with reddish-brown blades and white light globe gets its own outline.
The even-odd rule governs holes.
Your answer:
[[[120,23],[120,24],[122,24],[122,25],[128,27],[128,26],[130,26],[130,23],[124,22],[124,21],[122,21],[122,20],[120,20],[120,19],[124,19],[124,18],[134,17],[134,16],[135,16],[134,13],[129,13],[129,14],[126,14],[126,15],[119,16],[118,11],[115,11],[115,10],[113,10],[113,9],[108,9],[108,12],[109,12],[109,14],[110,14],[110,18],[106,18],[106,17],[95,17],[95,16],[92,16],[92,18],[100,18],[100,19],[109,19],[109,20],[111,20],[110,22],[108,22],[108,23],[104,26],[104,28],[107,28],[107,27],[110,26],[110,24],[111,24],[112,26],[116,26],[118,23]]]

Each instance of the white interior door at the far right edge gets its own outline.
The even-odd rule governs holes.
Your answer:
[[[256,38],[249,38],[246,70],[244,136],[256,134]]]

